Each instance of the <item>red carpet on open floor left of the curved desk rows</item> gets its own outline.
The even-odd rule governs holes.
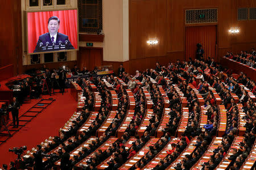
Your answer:
[[[67,90],[66,90],[67,91]],[[50,96],[43,96],[48,99]],[[42,113],[28,122],[20,131],[14,134],[13,137],[7,140],[0,146],[0,167],[2,164],[9,164],[10,161],[16,159],[13,152],[9,152],[9,148],[27,146],[27,150],[40,144],[48,137],[59,135],[59,129],[63,127],[65,122],[69,120],[72,114],[76,111],[77,102],[73,99],[70,92],[55,94],[51,96],[53,101]],[[33,99],[29,104],[23,104],[20,107],[19,113],[22,114],[38,103],[40,99]]]

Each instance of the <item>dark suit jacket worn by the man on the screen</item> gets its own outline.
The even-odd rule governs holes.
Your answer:
[[[62,44],[65,44],[65,41],[68,41],[67,48],[65,48],[65,49],[75,49],[73,47],[73,45],[71,44],[71,42],[69,41],[67,35],[57,32],[55,44],[59,45],[59,41],[61,41]],[[46,46],[46,42],[49,42],[49,45],[52,45],[51,35],[49,34],[49,32],[44,33],[43,35],[39,36],[38,43],[36,44],[34,53],[42,52],[42,49],[39,48],[40,42],[43,43],[43,46]]]

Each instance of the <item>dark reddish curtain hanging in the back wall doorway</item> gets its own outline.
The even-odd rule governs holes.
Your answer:
[[[196,44],[200,43],[204,49],[204,59],[216,57],[216,25],[186,27],[186,60],[196,58]]]

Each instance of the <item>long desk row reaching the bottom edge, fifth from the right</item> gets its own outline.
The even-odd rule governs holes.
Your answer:
[[[142,169],[144,170],[150,170],[150,169],[153,169],[156,167],[156,165],[158,165],[158,163],[160,162],[160,160],[166,158],[166,156],[168,155],[166,151],[168,150],[171,150],[172,149],[172,146],[171,144],[172,143],[175,143],[177,144],[177,142],[179,142],[180,139],[179,138],[172,138],[168,143],[167,143],[167,146],[164,147],[162,149],[162,151],[159,152],[158,155],[155,156],[155,158],[153,158],[145,167],[143,167]]]

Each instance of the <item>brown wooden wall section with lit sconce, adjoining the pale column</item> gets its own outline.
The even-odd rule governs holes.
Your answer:
[[[167,1],[130,1],[130,59],[164,56],[167,53]],[[148,45],[148,40],[158,45]]]

